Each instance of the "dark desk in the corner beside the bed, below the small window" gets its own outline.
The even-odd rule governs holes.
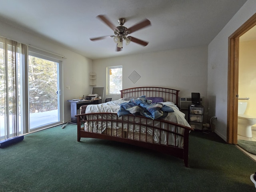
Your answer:
[[[77,110],[80,108],[80,106],[90,105],[90,104],[99,104],[100,101],[101,99],[68,100],[68,102],[70,102],[70,108],[71,108],[71,122],[77,123],[75,115],[77,115]]]

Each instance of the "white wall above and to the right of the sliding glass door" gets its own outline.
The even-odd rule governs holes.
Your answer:
[[[79,98],[91,92],[88,74],[92,70],[92,60],[72,52],[53,41],[35,36],[30,32],[20,30],[2,21],[0,21],[0,26],[0,36],[4,38],[66,57],[62,61],[64,83],[62,91],[64,93],[64,122],[70,121],[70,103],[67,100]],[[67,90],[66,86],[70,86],[70,90]]]

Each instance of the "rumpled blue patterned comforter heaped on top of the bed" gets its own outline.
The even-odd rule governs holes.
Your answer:
[[[142,115],[151,119],[157,119],[164,116],[164,112],[174,112],[174,110],[162,103],[151,104],[146,100],[146,96],[141,96],[138,99],[131,99],[128,103],[122,103],[118,116],[133,114]]]

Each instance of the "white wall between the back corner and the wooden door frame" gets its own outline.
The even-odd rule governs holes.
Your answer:
[[[256,10],[248,0],[208,46],[208,101],[210,116],[217,116],[215,132],[226,141],[228,93],[228,37]]]

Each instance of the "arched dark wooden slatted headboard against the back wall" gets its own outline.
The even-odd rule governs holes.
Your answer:
[[[140,97],[145,95],[146,97],[162,97],[164,101],[170,101],[178,106],[178,93],[179,90],[162,88],[162,87],[135,87],[120,90],[121,98],[125,97]]]

